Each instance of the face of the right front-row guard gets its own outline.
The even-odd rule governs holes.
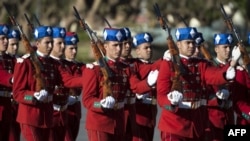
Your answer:
[[[195,42],[194,40],[182,40],[176,43],[179,53],[191,57],[195,52]]]

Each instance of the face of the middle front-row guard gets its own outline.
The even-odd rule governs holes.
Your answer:
[[[118,59],[121,55],[122,42],[108,41],[104,44],[106,56],[110,59]]]

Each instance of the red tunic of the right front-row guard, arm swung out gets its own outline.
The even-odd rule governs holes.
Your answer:
[[[226,68],[210,67],[207,61],[198,58],[181,58],[181,62],[186,70],[180,77],[183,101],[176,107],[172,106],[167,98],[171,92],[171,79],[174,77],[173,64],[171,61],[161,63],[157,80],[157,101],[162,113],[158,128],[162,134],[197,138],[204,131],[204,121],[207,117],[205,108],[202,108],[204,104],[202,99],[206,97],[203,83],[213,85],[226,83],[223,77]]]

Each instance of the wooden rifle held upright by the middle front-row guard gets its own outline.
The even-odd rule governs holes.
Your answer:
[[[82,19],[77,11],[77,9],[73,6],[74,11],[75,11],[75,17],[79,21],[81,27],[87,32],[90,40],[91,40],[91,47],[95,55],[95,59],[98,61],[104,80],[103,80],[103,97],[107,97],[112,95],[112,90],[111,90],[111,81],[110,78],[112,77],[112,73],[110,68],[108,67],[105,59],[104,59],[104,53],[102,48],[103,44],[102,42],[98,39],[96,33],[90,29],[88,24],[85,22],[84,19]]]

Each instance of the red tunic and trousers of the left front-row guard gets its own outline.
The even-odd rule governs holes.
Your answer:
[[[34,138],[48,140],[49,129],[53,127],[52,99],[57,82],[56,67],[50,57],[38,56],[38,60],[45,89],[49,94],[46,102],[39,102],[34,98],[35,70],[29,55],[24,59],[17,59],[14,71],[13,97],[19,103],[17,121],[21,124],[21,131],[26,140],[34,140]]]

